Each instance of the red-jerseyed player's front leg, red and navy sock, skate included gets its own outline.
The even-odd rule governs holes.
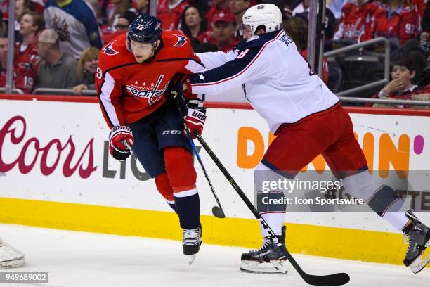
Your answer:
[[[182,119],[174,104],[167,104],[158,115],[155,129],[159,148],[164,151],[164,166],[183,229],[183,253],[195,255],[202,243],[202,227],[200,199],[195,184],[197,174],[190,143],[182,133]],[[193,257],[190,260],[192,262]]]

